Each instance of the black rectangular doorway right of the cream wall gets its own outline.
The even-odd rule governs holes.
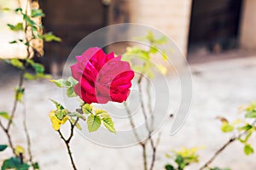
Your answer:
[[[241,0],[194,0],[189,29],[189,54],[204,48],[218,53],[236,48]]]

